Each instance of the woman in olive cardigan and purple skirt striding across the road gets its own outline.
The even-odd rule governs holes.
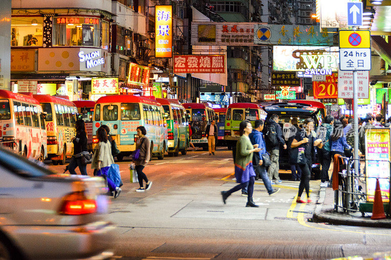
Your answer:
[[[240,183],[229,191],[222,191],[223,203],[226,203],[227,198],[234,192],[237,192],[247,185],[247,204],[246,207],[259,207],[253,201],[255,172],[253,168],[253,152],[260,152],[258,144],[252,145],[248,135],[252,132],[253,127],[247,120],[243,120],[239,124],[239,140],[236,145],[235,159],[235,177],[236,182]]]

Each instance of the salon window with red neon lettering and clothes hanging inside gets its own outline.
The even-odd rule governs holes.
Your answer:
[[[53,45],[101,46],[99,18],[57,17],[53,20]],[[108,35],[106,37],[109,39]]]

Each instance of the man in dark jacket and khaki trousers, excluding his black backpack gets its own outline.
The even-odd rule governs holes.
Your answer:
[[[266,128],[266,138],[268,138],[268,131],[270,129],[273,129],[272,126],[274,126],[274,129],[276,130],[276,137],[277,137],[277,144],[275,144],[272,147],[266,147],[267,152],[270,154],[270,166],[268,169],[268,175],[271,183],[273,183],[273,176],[276,179],[276,183],[282,183],[282,180],[280,180],[279,171],[280,171],[280,165],[279,165],[279,158],[280,158],[280,145],[283,146],[284,149],[286,149],[285,140],[282,136],[282,130],[281,126],[278,124],[278,115],[272,114],[269,122],[268,127]]]

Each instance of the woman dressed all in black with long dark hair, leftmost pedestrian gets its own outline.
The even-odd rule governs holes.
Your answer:
[[[79,167],[82,175],[87,175],[87,164],[83,164],[83,154],[88,154],[87,131],[83,119],[76,120],[76,136],[72,138],[73,156],[68,165],[70,174],[76,174],[75,169]]]

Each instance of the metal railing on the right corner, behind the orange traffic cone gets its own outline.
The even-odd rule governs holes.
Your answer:
[[[334,191],[334,210],[338,211],[341,209],[344,213],[359,212],[360,203],[367,202],[367,197],[373,196],[366,193],[369,182],[368,180],[378,178],[379,180],[387,179],[390,181],[390,177],[368,177],[365,173],[366,163],[384,162],[388,163],[390,166],[389,169],[391,169],[391,162],[388,160],[357,159],[359,161],[359,168],[361,172],[359,170],[358,173],[355,173],[355,159],[342,156],[339,157],[339,160],[340,159],[343,163],[340,164],[340,170],[338,172],[338,190]],[[361,167],[363,165],[364,168]],[[385,195],[382,195],[382,198],[383,200],[388,199],[388,197]],[[362,214],[364,215],[364,212],[362,212]],[[390,217],[390,212],[387,212],[386,214]]]

